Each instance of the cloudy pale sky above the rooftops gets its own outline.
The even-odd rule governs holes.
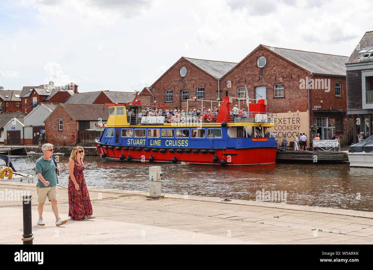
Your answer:
[[[259,44],[350,56],[372,1],[0,2],[0,85],[150,86],[180,57],[239,62]]]

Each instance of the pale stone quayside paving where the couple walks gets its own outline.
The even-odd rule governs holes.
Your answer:
[[[95,219],[54,224],[50,202],[38,226],[35,184],[0,183],[32,195],[34,244],[372,244],[373,213],[325,207],[89,188]],[[60,217],[67,189],[58,186]],[[22,202],[0,201],[1,244],[22,244]],[[313,230],[316,229],[316,230]]]

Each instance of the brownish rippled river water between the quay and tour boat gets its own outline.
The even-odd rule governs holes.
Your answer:
[[[16,170],[35,166],[38,157],[12,158]],[[68,157],[59,157],[59,182],[68,183]],[[271,164],[222,167],[195,164],[104,162],[84,159],[88,190],[116,188],[149,191],[149,166],[161,166],[162,192],[256,200],[258,191],[286,191],[286,203],[373,211],[373,169],[346,164]],[[30,172],[30,171],[29,171]],[[271,199],[269,197],[268,199]],[[267,200],[268,200],[267,199]],[[285,199],[283,196],[282,199]]]

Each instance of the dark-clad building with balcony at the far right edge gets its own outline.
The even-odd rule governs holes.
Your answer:
[[[347,68],[347,112],[354,119],[354,143],[357,136],[364,138],[373,134],[373,31],[361,38],[346,62]]]

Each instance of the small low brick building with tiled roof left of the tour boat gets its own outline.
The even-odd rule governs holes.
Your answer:
[[[46,140],[58,146],[76,145],[78,131],[97,129],[109,118],[109,108],[102,104],[60,103],[44,121]]]

